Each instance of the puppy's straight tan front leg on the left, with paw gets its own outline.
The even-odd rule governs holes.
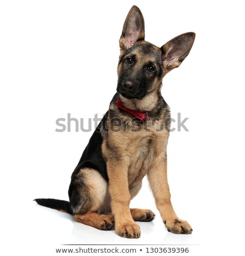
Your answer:
[[[122,237],[138,238],[140,237],[140,228],[133,221],[130,212],[131,196],[128,190],[127,172],[128,164],[126,160],[107,161],[109,193],[111,196],[112,214],[115,218],[115,230]]]

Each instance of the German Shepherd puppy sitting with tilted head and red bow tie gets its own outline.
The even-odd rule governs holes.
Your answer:
[[[177,68],[192,48],[195,34],[181,34],[161,48],[144,40],[144,18],[129,11],[122,29],[117,93],[71,176],[70,202],[35,199],[68,212],[74,220],[127,238],[140,237],[135,221],[152,221],[151,210],[130,209],[130,200],[148,176],[157,209],[168,231],[191,234],[170,201],[167,143],[170,111],[161,95],[162,78]]]

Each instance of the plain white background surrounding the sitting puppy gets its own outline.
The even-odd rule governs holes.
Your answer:
[[[68,199],[71,173],[93,131],[56,132],[56,119],[107,111],[133,4],[144,15],[145,39],[157,46],[197,34],[162,88],[172,117],[189,118],[189,132],[170,135],[168,176],[175,211],[192,235],[166,231],[146,180],[131,206],[154,210],[156,219],[139,223],[138,240],[32,202]],[[242,255],[244,22],[242,1],[1,1],[2,255],[53,255],[63,243],[187,244],[201,245],[189,255]]]

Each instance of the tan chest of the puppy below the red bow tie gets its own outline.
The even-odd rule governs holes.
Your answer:
[[[125,118],[115,127],[111,125],[108,144],[111,154],[127,165],[129,188],[137,186],[157,156],[166,151],[169,132],[163,129],[163,123],[163,120],[152,123]]]

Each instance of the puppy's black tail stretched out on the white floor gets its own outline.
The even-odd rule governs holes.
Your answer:
[[[34,201],[36,201],[36,203],[48,207],[48,208],[52,208],[58,211],[63,211],[66,212],[68,214],[72,215],[72,211],[71,211],[71,206],[70,206],[70,202],[68,201],[64,201],[64,200],[58,200],[58,199],[50,199],[50,198],[39,198],[39,199],[34,199]]]

